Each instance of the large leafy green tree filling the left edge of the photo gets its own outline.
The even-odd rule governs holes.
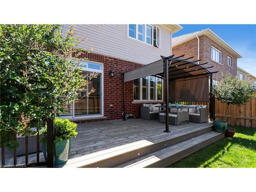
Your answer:
[[[63,35],[60,25],[0,25],[1,146],[17,147],[13,132],[37,133],[77,99],[88,83],[76,60],[84,40],[73,26]]]

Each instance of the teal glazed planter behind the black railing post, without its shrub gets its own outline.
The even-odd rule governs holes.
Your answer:
[[[55,142],[55,166],[66,163],[71,150],[71,139]],[[42,153],[47,161],[46,143],[42,143]]]

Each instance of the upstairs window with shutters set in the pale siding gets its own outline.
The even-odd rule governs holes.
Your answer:
[[[160,30],[158,26],[144,24],[130,24],[128,25],[128,36],[146,44],[153,45],[154,47],[160,46]]]

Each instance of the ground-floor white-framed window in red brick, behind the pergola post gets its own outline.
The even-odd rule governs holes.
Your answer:
[[[147,76],[133,81],[134,100],[163,100],[163,80]]]

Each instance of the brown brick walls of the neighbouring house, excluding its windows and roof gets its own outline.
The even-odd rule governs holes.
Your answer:
[[[214,41],[208,38],[205,35],[199,37],[200,39],[200,54],[199,58],[202,59],[200,63],[208,62],[206,67],[214,66],[210,68],[211,71],[219,71],[218,73],[214,74],[215,80],[221,79],[221,73],[224,74],[232,74],[233,76],[237,75],[237,58],[230,54],[228,51],[217,45]],[[222,64],[219,64],[215,61],[211,60],[211,46],[219,49],[222,52]],[[176,56],[185,54],[184,58],[194,56],[193,59],[190,60],[197,60],[198,59],[198,40],[194,38],[190,41],[185,42],[179,46],[173,48],[173,54]],[[231,57],[231,64],[232,68],[227,65],[227,56]]]

